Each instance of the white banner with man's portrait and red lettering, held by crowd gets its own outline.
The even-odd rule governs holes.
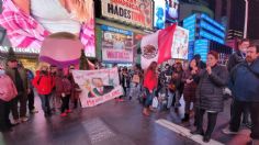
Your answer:
[[[74,70],[74,79],[82,90],[80,102],[82,108],[94,107],[122,96],[117,68],[99,70]]]

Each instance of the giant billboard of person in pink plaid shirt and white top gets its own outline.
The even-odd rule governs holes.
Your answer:
[[[47,36],[66,33],[81,41],[86,56],[95,57],[93,0],[2,0],[1,5],[0,45],[42,48]]]

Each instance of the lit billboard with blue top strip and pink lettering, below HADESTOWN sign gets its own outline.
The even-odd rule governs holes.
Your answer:
[[[133,63],[133,32],[108,25],[102,30],[102,60],[106,63]]]

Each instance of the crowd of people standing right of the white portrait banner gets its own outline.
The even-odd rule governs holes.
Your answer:
[[[203,135],[204,142],[211,140],[217,115],[224,110],[224,101],[232,98],[229,126],[223,133],[237,134],[243,123],[251,129],[252,143],[259,144],[259,47],[249,40],[238,43],[238,49],[229,56],[226,66],[219,64],[218,53],[211,51],[206,63],[195,55],[187,66],[179,62],[165,66],[153,62],[147,70],[122,68],[120,74],[125,94],[130,100],[137,97],[143,102],[144,115],[150,115],[154,108],[173,108],[178,113],[183,97],[184,116],[181,121],[189,122],[194,116],[196,130],[191,133]],[[204,113],[207,113],[205,131]]]

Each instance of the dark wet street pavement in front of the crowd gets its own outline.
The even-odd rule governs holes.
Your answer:
[[[48,119],[43,115],[38,98],[36,100],[40,112],[30,118],[30,121],[13,127],[13,132],[2,134],[1,145],[199,144],[189,137],[184,137],[182,133],[176,133],[173,127],[170,127],[173,125],[169,124],[165,127],[165,123],[157,122],[164,119],[169,123],[194,129],[188,124],[181,124],[179,115],[173,110],[170,112],[158,111],[150,116],[144,116],[140,113],[142,105],[136,99],[125,102],[112,100],[94,108],[75,110],[67,118],[60,118],[57,113]],[[227,136],[221,132],[229,120],[228,112],[229,101],[225,104],[225,111],[218,115],[216,131],[212,138],[222,144],[245,145],[249,141],[248,130],[240,131],[240,135],[237,136]],[[192,122],[193,120],[191,120]],[[202,141],[201,137],[200,141]]]

